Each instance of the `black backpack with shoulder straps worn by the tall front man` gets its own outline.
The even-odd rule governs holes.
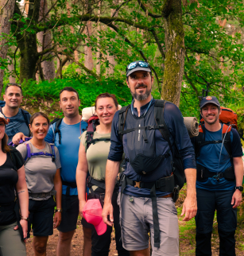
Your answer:
[[[154,104],[154,118],[157,123],[157,128],[155,129],[158,129],[161,132],[165,141],[168,142],[169,148],[172,152],[172,173],[174,174],[175,186],[179,186],[179,188],[182,188],[185,182],[184,165],[177,147],[173,146],[175,142],[173,142],[172,144],[169,139],[169,138],[172,138],[172,135],[169,133],[168,127],[165,123],[165,118],[164,118],[165,103],[167,103],[167,101],[157,99]],[[122,107],[122,109],[119,111],[118,134],[120,134],[121,142],[122,142],[122,136],[123,136],[122,131],[124,130],[124,127],[125,127],[126,114],[129,108],[130,108],[130,105],[126,107]],[[145,129],[149,129],[149,127],[146,126]]]

